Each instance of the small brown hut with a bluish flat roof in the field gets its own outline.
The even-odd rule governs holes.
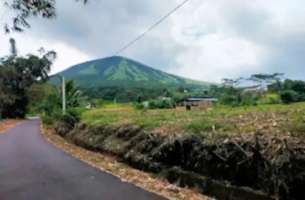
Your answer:
[[[176,105],[176,110],[203,110],[213,107],[213,101],[217,99],[213,97],[194,97],[181,100]]]

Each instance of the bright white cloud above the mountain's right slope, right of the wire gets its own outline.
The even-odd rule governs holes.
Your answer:
[[[186,47],[176,57],[181,65],[179,75],[219,81],[260,64],[261,54],[266,50],[245,38],[224,32],[219,12],[214,1],[199,5],[195,1],[172,17],[173,38]]]

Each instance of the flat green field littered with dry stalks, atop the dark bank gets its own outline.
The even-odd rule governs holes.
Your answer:
[[[204,111],[174,109],[136,111],[132,107],[87,111],[83,121],[89,124],[134,123],[161,134],[170,133],[305,133],[305,103],[216,107]]]

